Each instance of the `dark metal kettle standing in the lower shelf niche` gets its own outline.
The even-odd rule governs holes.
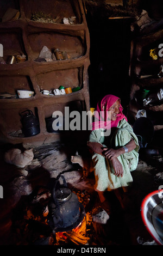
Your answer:
[[[40,133],[39,120],[34,116],[33,112],[29,109],[21,112],[21,121],[23,125],[24,136],[30,137]]]

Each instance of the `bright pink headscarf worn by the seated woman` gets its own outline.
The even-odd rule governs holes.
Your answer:
[[[117,114],[117,118],[115,121],[107,120],[108,119],[108,111],[109,108],[114,105],[114,103],[120,100],[119,97],[114,96],[114,95],[106,95],[103,97],[102,101],[99,101],[97,103],[97,109],[95,111],[95,121],[92,123],[92,130],[97,130],[99,128],[104,128],[104,129],[110,129],[112,127],[117,127],[118,123],[120,120],[123,118],[126,118],[126,116],[122,113],[123,108],[120,103],[120,113]]]

